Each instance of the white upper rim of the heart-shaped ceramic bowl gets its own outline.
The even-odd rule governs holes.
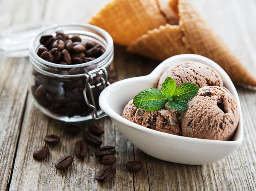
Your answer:
[[[150,79],[151,77],[158,75],[160,72],[163,71],[163,67],[165,66],[166,63],[169,62],[175,62],[175,64],[178,64],[182,61],[198,61],[198,62],[202,62],[206,65],[208,65],[209,67],[212,67],[213,69],[215,69],[221,76],[225,76],[226,80],[229,81],[230,83],[230,87],[229,90],[231,92],[233,92],[233,96],[236,98],[237,103],[238,103],[238,108],[239,108],[239,115],[240,115],[240,120],[239,120],[239,125],[237,127],[236,131],[239,132],[235,132],[236,133],[236,139],[232,140],[232,141],[221,141],[221,140],[210,140],[210,139],[198,139],[198,138],[192,138],[192,137],[185,137],[185,136],[177,136],[177,135],[172,135],[169,133],[163,133],[157,130],[152,130],[146,127],[143,127],[139,124],[136,124],[134,122],[129,121],[128,119],[123,118],[122,116],[120,116],[118,113],[116,113],[108,104],[108,92],[110,92],[113,88],[119,87],[121,84],[123,83],[132,83],[134,81],[139,81],[140,79],[143,79],[143,81],[145,80],[145,78]],[[135,95],[134,95],[135,96]],[[105,90],[102,91],[100,97],[99,97],[99,105],[101,107],[101,109],[108,114],[108,116],[110,116],[111,118],[115,119],[116,121],[125,124],[127,126],[133,127],[135,129],[147,132],[147,133],[154,133],[154,134],[158,134],[159,136],[164,136],[164,137],[169,137],[170,139],[179,139],[179,140],[186,140],[186,141],[192,141],[192,142],[198,142],[198,143],[214,143],[214,144],[223,144],[223,142],[225,142],[225,145],[233,145],[233,144],[237,144],[237,142],[242,142],[243,140],[243,135],[244,135],[244,131],[243,131],[243,118],[242,118],[242,113],[241,113],[241,105],[240,105],[240,101],[239,101],[239,96],[238,93],[236,91],[236,88],[233,84],[233,82],[231,81],[230,77],[227,75],[227,73],[224,71],[224,69],[222,69],[218,64],[216,64],[214,61],[210,60],[209,58],[206,58],[204,56],[201,55],[194,55],[194,54],[183,54],[183,55],[175,55],[171,58],[166,59],[165,61],[163,61],[161,64],[159,64],[150,74],[145,75],[145,76],[140,76],[140,77],[134,77],[134,78],[128,78],[128,79],[124,79],[121,81],[117,81],[113,84],[111,84],[110,86],[108,86],[107,88],[105,88]]]

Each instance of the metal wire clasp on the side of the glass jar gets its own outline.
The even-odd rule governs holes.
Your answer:
[[[96,85],[91,85],[90,81],[92,81],[93,78],[95,78],[99,75],[102,75],[102,77],[100,78],[100,82]],[[102,114],[97,113],[96,103],[95,103],[95,99],[93,96],[93,88],[103,86],[103,89],[104,89],[105,87],[110,85],[110,83],[108,81],[108,72],[105,68],[99,68],[99,69],[93,70],[91,72],[88,72],[88,74],[85,74],[85,76],[86,76],[86,85],[84,88],[84,98],[85,98],[86,104],[93,109],[93,112],[92,112],[93,119],[102,119],[103,117],[106,117],[108,115],[105,113],[102,113]],[[89,102],[87,95],[86,95],[87,93],[89,93],[92,103]]]

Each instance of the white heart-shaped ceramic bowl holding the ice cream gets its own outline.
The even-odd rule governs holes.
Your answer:
[[[198,61],[215,69],[221,75],[224,87],[235,96],[239,107],[240,121],[231,141],[196,139],[163,133],[130,122],[121,116],[125,105],[137,93],[150,87],[156,87],[163,72],[183,61]],[[244,136],[241,105],[233,82],[218,64],[200,55],[176,55],[163,61],[149,75],[117,81],[102,91],[99,105],[120,132],[137,148],[165,161],[188,165],[206,165],[217,162],[239,148]]]

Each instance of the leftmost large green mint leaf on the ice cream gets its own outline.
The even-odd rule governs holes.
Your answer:
[[[163,109],[167,102],[167,96],[156,88],[149,88],[138,93],[133,100],[133,104],[146,111],[156,111]]]

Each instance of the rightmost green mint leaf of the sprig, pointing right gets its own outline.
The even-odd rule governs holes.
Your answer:
[[[176,87],[174,95],[177,96],[177,99],[188,101],[198,93],[198,90],[199,87],[196,84],[188,82]]]

